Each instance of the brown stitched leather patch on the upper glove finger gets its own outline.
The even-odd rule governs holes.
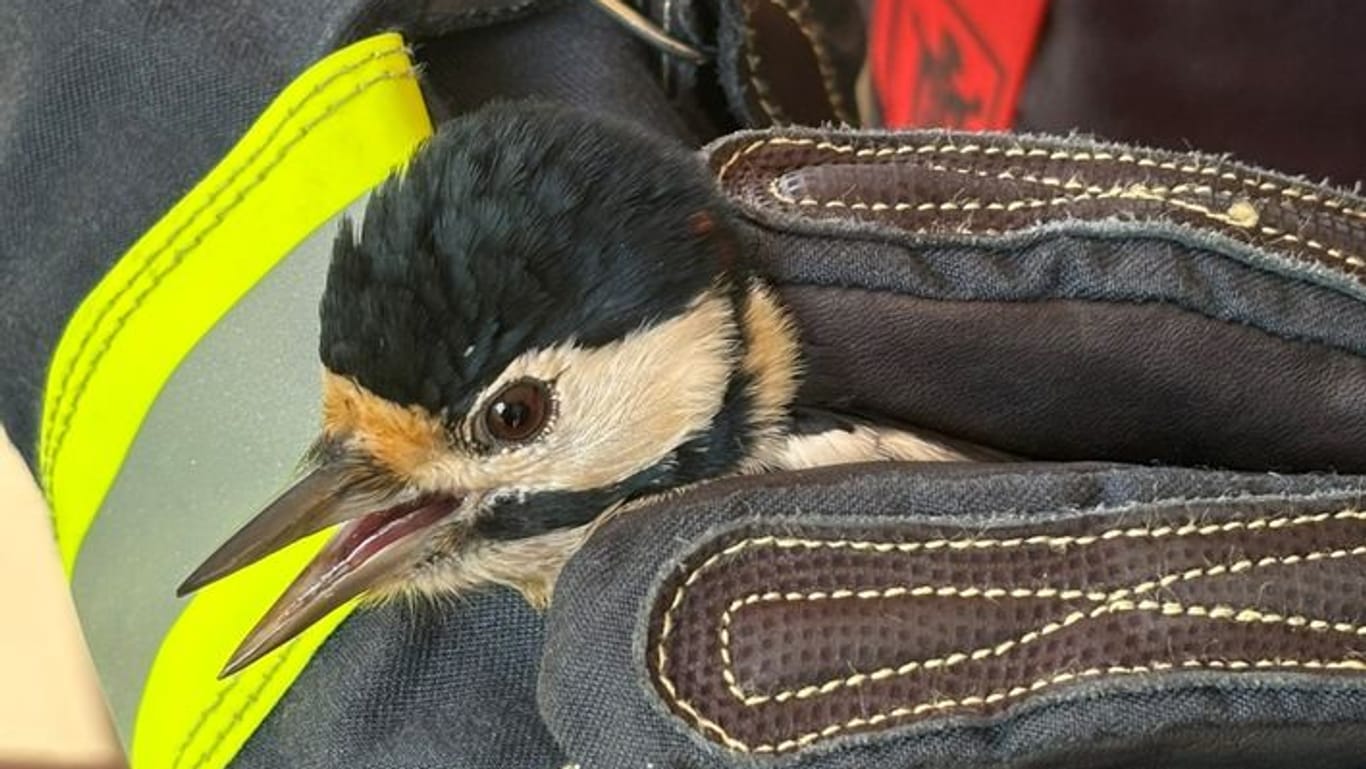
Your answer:
[[[728,138],[712,167],[754,209],[958,235],[1173,221],[1366,281],[1366,201],[1194,153],[1005,134],[792,132]]]

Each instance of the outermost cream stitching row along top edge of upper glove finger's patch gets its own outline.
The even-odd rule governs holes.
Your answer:
[[[1348,208],[1346,201],[1333,197],[1320,197],[1307,190],[1295,186],[1280,186],[1274,182],[1266,182],[1259,179],[1249,179],[1239,176],[1233,172],[1224,171],[1218,167],[1212,165],[1195,165],[1195,164],[1176,164],[1175,161],[1156,161],[1149,157],[1135,156],[1132,153],[1115,154],[1111,152],[1097,150],[1097,152],[1065,152],[1065,150],[1046,150],[1041,148],[997,148],[997,146],[982,146],[982,145],[896,145],[896,146],[865,146],[859,148],[851,143],[833,143],[829,141],[820,139],[802,139],[792,137],[770,137],[766,139],[757,141],[739,149],[731,154],[729,158],[721,165],[721,172],[717,173],[717,180],[724,180],[725,172],[738,163],[742,157],[758,152],[766,145],[777,146],[809,146],[821,152],[832,152],[836,154],[852,154],[854,157],[889,157],[897,154],[981,154],[981,156],[994,156],[1000,154],[1003,157],[1034,157],[1046,160],[1070,160],[1074,163],[1120,163],[1130,164],[1138,168],[1156,168],[1161,171],[1173,171],[1183,173],[1186,176],[1203,176],[1209,179],[1218,179],[1224,182],[1236,182],[1244,187],[1253,188],[1261,193],[1277,193],[1281,197],[1294,198],[1305,202],[1318,204],[1328,208],[1332,213],[1343,213],[1352,216],[1355,219],[1366,220],[1366,210]]]

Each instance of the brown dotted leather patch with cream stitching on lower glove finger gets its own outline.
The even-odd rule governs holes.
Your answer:
[[[1366,675],[1366,512],[1220,507],[755,523],[660,590],[649,665],[675,713],[749,754],[1019,712],[1086,682]]]

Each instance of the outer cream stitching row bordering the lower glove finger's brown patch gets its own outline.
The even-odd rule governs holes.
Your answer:
[[[764,143],[764,142],[755,142],[755,145],[750,145],[750,146],[757,146],[757,145],[761,145],[761,143]],[[738,153],[738,154],[743,154],[743,150],[740,150],[740,153]],[[725,167],[723,167],[723,172],[724,171],[725,171]],[[1161,501],[1179,501],[1179,503],[1183,503],[1183,504],[1195,504],[1195,503],[1202,503],[1202,501],[1217,501],[1217,500],[1198,500],[1197,499],[1197,500],[1161,500]],[[682,710],[683,713],[686,713],[698,728],[701,728],[702,731],[710,732],[713,736],[716,736],[716,739],[719,739],[727,747],[731,747],[732,750],[738,750],[738,751],[743,751],[743,753],[781,753],[781,751],[785,751],[785,750],[792,750],[792,749],[796,749],[796,747],[802,747],[802,746],[809,744],[809,743],[811,743],[811,742],[814,742],[817,739],[821,739],[821,738],[825,738],[825,736],[831,736],[833,733],[839,733],[839,732],[846,731],[846,729],[851,729],[851,728],[856,728],[856,727],[862,727],[862,725],[873,725],[873,724],[877,724],[877,723],[881,723],[881,721],[885,721],[885,720],[889,720],[889,718],[902,718],[902,717],[906,717],[906,716],[915,716],[915,714],[925,713],[925,712],[929,712],[929,710],[936,710],[936,709],[948,709],[948,708],[956,708],[956,706],[963,706],[963,705],[971,705],[971,703],[974,703],[973,702],[974,699],[977,701],[975,703],[997,702],[1000,699],[1007,699],[1007,698],[1011,698],[1011,697],[1019,697],[1022,694],[1027,694],[1029,691],[1034,691],[1037,688],[1042,688],[1044,686],[1052,686],[1055,683],[1061,683],[1061,680],[1072,680],[1072,679],[1076,679],[1076,677],[1087,677],[1087,676],[1093,676],[1093,675],[1102,675],[1102,673],[1106,673],[1106,672],[1115,673],[1116,671],[1119,671],[1119,668],[1106,668],[1106,669],[1096,669],[1096,672],[1082,671],[1081,673],[1060,673],[1059,676],[1053,676],[1053,679],[1042,679],[1044,680],[1042,684],[1040,682],[1034,682],[1033,684],[1030,684],[1029,688],[1015,687],[1015,688],[1012,688],[1012,690],[1009,690],[1009,691],[1007,691],[1004,694],[1003,693],[992,693],[992,694],[988,694],[986,697],[981,697],[981,698],[964,698],[962,701],[948,701],[947,705],[922,703],[922,705],[917,705],[914,708],[899,708],[899,709],[895,709],[895,710],[892,710],[889,713],[874,716],[873,717],[874,720],[854,718],[851,721],[846,721],[844,724],[833,724],[831,727],[826,727],[821,732],[811,732],[809,735],[802,735],[800,738],[796,738],[795,740],[784,740],[781,743],[777,743],[776,746],[775,744],[750,746],[750,744],[747,744],[744,742],[740,742],[740,740],[735,739],[734,736],[731,736],[731,733],[727,732],[720,724],[717,724],[716,721],[713,721],[713,720],[702,716],[702,713],[699,713],[697,710],[697,708],[693,706],[691,702],[688,702],[687,699],[683,699],[682,697],[679,697],[678,687],[675,686],[673,679],[671,679],[669,673],[668,673],[668,662],[669,662],[669,657],[668,657],[668,639],[669,639],[669,635],[673,632],[673,613],[683,604],[683,597],[687,593],[687,589],[691,587],[694,583],[697,583],[697,581],[701,579],[702,574],[705,574],[706,571],[709,571],[712,567],[714,567],[723,559],[727,559],[729,556],[734,556],[734,555],[740,553],[740,552],[743,552],[746,549],[750,549],[750,548],[848,549],[848,550],[852,550],[852,552],[873,552],[873,553],[889,553],[889,552],[908,553],[908,552],[925,552],[925,550],[940,550],[940,549],[948,549],[948,550],[971,550],[971,549],[990,549],[990,548],[1011,549],[1011,548],[1022,548],[1022,546],[1033,546],[1033,545],[1044,545],[1044,546],[1049,546],[1049,548],[1068,548],[1068,546],[1087,546],[1087,545],[1093,545],[1096,542],[1104,542],[1104,541],[1120,540],[1120,538],[1158,540],[1158,538],[1168,538],[1168,537],[1190,537],[1190,535],[1209,537],[1212,534],[1223,534],[1223,533],[1229,533],[1229,531],[1262,531],[1262,530],[1274,531],[1274,530],[1285,529],[1285,527],[1291,527],[1291,526],[1309,526],[1309,525],[1315,525],[1315,523],[1324,523],[1326,520],[1366,520],[1366,512],[1358,511],[1358,509],[1350,509],[1348,508],[1348,509],[1341,509],[1341,511],[1337,511],[1337,512],[1321,512],[1321,514],[1307,514],[1307,515],[1296,515],[1296,516],[1279,516],[1279,518],[1258,518],[1258,519],[1253,519],[1253,520],[1225,520],[1223,523],[1209,523],[1209,525],[1201,525],[1201,523],[1191,522],[1191,523],[1186,523],[1186,525],[1182,525],[1182,526],[1109,529],[1109,530],[1101,531],[1098,534],[1061,535],[1061,537],[1034,535],[1034,537],[1008,537],[1008,538],[929,540],[929,541],[921,541],[921,542],[877,542],[877,541],[866,541],[866,540],[807,540],[807,538],[776,537],[776,535],[753,537],[753,538],[742,540],[742,541],[739,541],[739,542],[736,542],[734,545],[729,545],[729,546],[724,548],[723,550],[720,550],[717,553],[713,553],[710,557],[708,557],[701,564],[698,564],[698,567],[694,568],[687,575],[687,578],[684,578],[683,583],[679,585],[678,590],[673,593],[673,600],[669,602],[669,608],[665,609],[665,612],[664,612],[664,619],[663,619],[663,621],[660,624],[660,638],[657,639],[656,647],[654,647],[656,665],[657,665],[657,669],[658,669],[656,680],[664,688],[668,701],[672,702],[675,708],[678,708],[679,710]],[[1285,557],[1290,559],[1290,557],[1295,557],[1295,556],[1285,556]],[[1229,572],[1231,574],[1236,572],[1235,568],[1233,568],[1235,565],[1238,565],[1238,564],[1231,564],[1229,565]],[[1216,568],[1216,567],[1210,567],[1210,568]],[[1172,665],[1169,662],[1153,662],[1153,665],[1150,665],[1149,668],[1142,668],[1142,669],[1141,668],[1132,668],[1132,671],[1134,672],[1147,672],[1150,669],[1165,669],[1165,668],[1171,668],[1171,667],[1175,667],[1175,665]],[[1302,667],[1302,668],[1329,668],[1329,669],[1350,668],[1350,669],[1363,669],[1363,671],[1366,671],[1366,662],[1355,661],[1355,660],[1340,661],[1340,662],[1324,662],[1324,661],[1317,661],[1317,660],[1303,660],[1303,661],[1300,661],[1300,660],[1255,660],[1255,661],[1239,661],[1239,660],[1232,660],[1232,661],[1229,661],[1229,660],[1225,660],[1225,661],[1198,661],[1198,660],[1193,660],[1193,661],[1183,662],[1180,667],[1186,667],[1186,668],[1212,668],[1213,667],[1213,668],[1228,668],[1228,669]],[[1067,676],[1067,677],[1065,679],[1060,679],[1060,680],[1055,680],[1055,679],[1059,679],[1060,676]],[[1016,690],[1020,690],[1019,694],[1011,694],[1011,693],[1014,693]]]

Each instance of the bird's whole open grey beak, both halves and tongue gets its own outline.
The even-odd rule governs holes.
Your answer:
[[[228,538],[186,578],[193,593],[314,531],[344,523],[238,646],[219,677],[229,676],[294,638],[332,609],[402,572],[421,557],[425,534],[462,499],[410,496],[377,503],[354,484],[354,469],[324,460]],[[388,507],[380,507],[388,504]]]

